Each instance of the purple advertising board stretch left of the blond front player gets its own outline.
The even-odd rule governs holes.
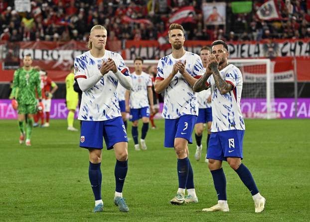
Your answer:
[[[76,108],[75,119],[77,119],[79,108]],[[50,119],[67,119],[68,110],[65,99],[52,99]],[[13,109],[11,100],[0,99],[0,119],[17,119],[17,111]]]

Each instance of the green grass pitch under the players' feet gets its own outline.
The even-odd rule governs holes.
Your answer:
[[[26,147],[18,144],[17,121],[0,120],[0,221],[309,220],[309,119],[246,120],[243,163],[267,199],[262,214],[254,213],[250,193],[227,163],[223,166],[230,212],[201,212],[217,198],[207,165],[193,158],[195,145],[189,145],[189,150],[199,203],[170,205],[178,185],[176,157],[173,149],[162,147],[163,121],[156,124],[159,129],[149,130],[147,151],[134,151],[133,141],[129,143],[124,197],[130,212],[121,213],[113,205],[115,156],[113,151],[104,150],[105,212],[93,214],[88,153],[79,148],[79,132],[68,132],[64,120],[51,120],[49,128],[33,130],[32,146]]]

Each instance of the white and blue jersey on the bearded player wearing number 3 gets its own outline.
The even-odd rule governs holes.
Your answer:
[[[175,59],[169,54],[158,61],[156,79],[163,80],[172,72],[173,65],[186,60],[186,71],[194,78],[200,78],[204,71],[199,55],[186,51]],[[190,84],[181,73],[177,72],[164,90],[162,117],[177,119],[183,115],[198,115],[198,100]]]

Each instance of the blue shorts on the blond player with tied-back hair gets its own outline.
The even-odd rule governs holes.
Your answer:
[[[105,121],[82,121],[80,147],[102,149],[103,137],[107,150],[113,149],[116,143],[128,142],[122,117]]]

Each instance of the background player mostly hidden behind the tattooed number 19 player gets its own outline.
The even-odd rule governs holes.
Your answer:
[[[204,67],[204,71],[206,71],[207,67],[207,56],[211,54],[211,48],[208,46],[204,46],[200,49],[200,58],[202,60],[202,65]],[[201,158],[201,151],[202,151],[202,133],[204,130],[203,125],[207,123],[207,130],[208,130],[208,137],[207,137],[207,145],[206,148],[208,149],[208,143],[210,138],[210,129],[212,124],[212,108],[211,108],[211,91],[203,90],[201,92],[197,93],[198,97],[198,104],[199,104],[199,112],[198,112],[198,118],[197,122],[195,124],[195,138],[196,138],[196,153],[195,153],[195,159],[196,161],[199,161]],[[208,162],[208,159],[205,158],[205,162]]]

